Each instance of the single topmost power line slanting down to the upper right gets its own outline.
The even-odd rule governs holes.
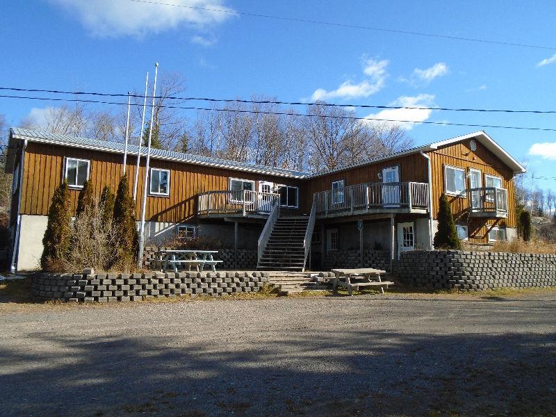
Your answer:
[[[462,36],[439,35],[437,33],[401,31],[401,30],[398,30],[398,29],[378,28],[378,27],[373,27],[373,26],[361,26],[361,25],[357,25],[357,24],[347,24],[347,23],[338,23],[338,22],[324,22],[324,21],[321,21],[321,20],[301,19],[301,18],[297,18],[297,17],[262,15],[262,14],[259,14],[259,13],[238,12],[236,10],[227,10],[227,9],[220,9],[220,8],[208,8],[208,7],[200,7],[200,6],[186,6],[186,5],[183,5],[183,4],[174,4],[174,3],[162,3],[160,1],[152,1],[152,0],[129,0],[129,1],[133,1],[135,3],[157,4],[159,6],[174,6],[174,7],[188,8],[188,9],[194,9],[194,10],[206,10],[206,11],[209,11],[209,12],[227,13],[229,15],[249,16],[249,17],[264,17],[266,19],[286,20],[286,21],[289,21],[289,22],[298,22],[298,23],[320,24],[320,25],[325,25],[325,26],[338,26],[338,27],[343,27],[343,28],[356,28],[356,29],[364,29],[366,31],[379,31],[379,32],[386,32],[386,33],[402,33],[404,35],[426,36],[426,37],[429,37],[429,38],[464,40],[466,42],[481,42],[481,43],[486,43],[486,44],[505,45],[505,46],[509,46],[509,47],[548,49],[550,51],[556,51],[556,47],[546,47],[546,46],[542,46],[542,45],[521,44],[521,43],[515,43],[515,42],[502,42],[502,41],[497,41],[497,40],[486,40],[486,39],[476,39],[476,38],[464,38]]]

